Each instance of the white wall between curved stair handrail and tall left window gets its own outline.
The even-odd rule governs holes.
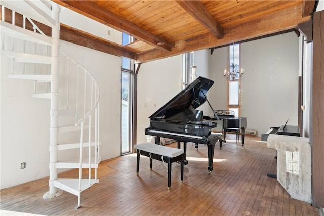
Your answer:
[[[120,156],[121,59],[61,41],[61,49],[91,72],[100,88],[100,155],[103,160]]]

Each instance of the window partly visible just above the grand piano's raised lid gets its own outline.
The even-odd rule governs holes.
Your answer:
[[[182,54],[182,89],[186,88],[197,77],[194,65],[194,52]]]

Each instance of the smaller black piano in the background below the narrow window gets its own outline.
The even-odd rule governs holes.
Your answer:
[[[232,110],[215,110],[219,119],[223,119],[223,142],[226,142],[227,128],[240,128],[242,131],[242,145],[244,144],[245,129],[247,128],[246,117],[235,117]]]

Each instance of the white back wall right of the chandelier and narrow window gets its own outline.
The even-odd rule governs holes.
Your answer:
[[[298,125],[298,52],[294,32],[241,45],[241,116],[258,136],[287,118]]]

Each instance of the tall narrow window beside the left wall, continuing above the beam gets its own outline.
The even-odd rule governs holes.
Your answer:
[[[132,42],[133,38],[125,33],[121,36],[121,44],[124,46]],[[127,58],[121,58],[121,154],[131,151],[132,137],[132,74],[134,62]]]

